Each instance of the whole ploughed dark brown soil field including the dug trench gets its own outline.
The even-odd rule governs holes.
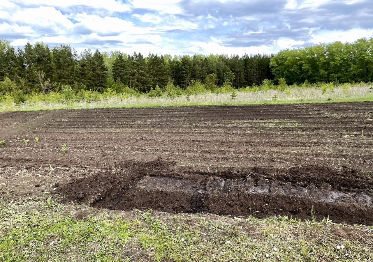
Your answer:
[[[372,108],[359,102],[5,113],[0,192],[9,199],[51,192],[60,202],[120,210],[302,219],[314,213],[317,220],[373,224]]]

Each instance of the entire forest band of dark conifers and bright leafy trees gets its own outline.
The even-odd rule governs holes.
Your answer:
[[[60,92],[66,86],[104,92],[125,89],[148,93],[167,84],[186,89],[196,82],[213,91],[275,84],[370,82],[373,80],[373,38],[353,43],[334,42],[277,54],[170,56],[124,54],[90,49],[80,54],[70,45],[53,48],[43,42],[17,50],[0,40],[0,93],[18,95]]]

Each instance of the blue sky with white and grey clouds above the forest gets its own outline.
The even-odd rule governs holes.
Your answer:
[[[78,51],[276,53],[373,37],[373,0],[0,0],[0,38]]]

